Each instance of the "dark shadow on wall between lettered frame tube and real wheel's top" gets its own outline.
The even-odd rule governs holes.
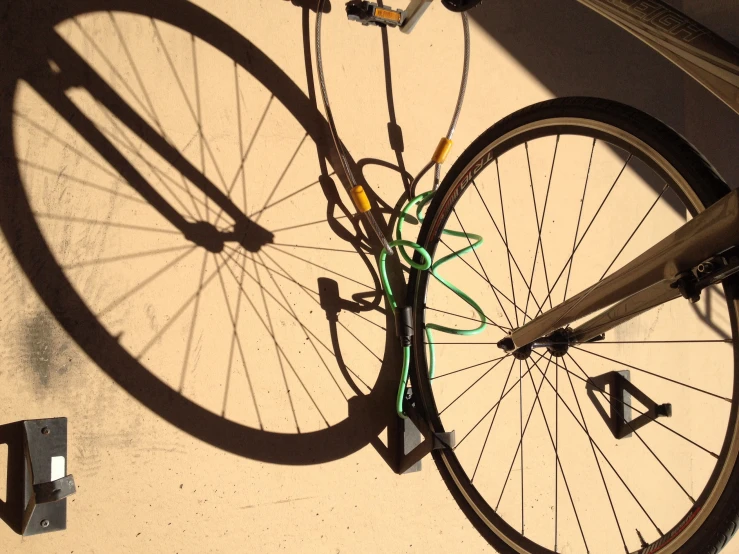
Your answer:
[[[726,22],[739,18],[739,5],[726,0],[667,3],[709,28],[720,18],[722,30],[728,30]],[[554,96],[596,96],[645,111],[686,136],[729,186],[739,184],[739,166],[726,148],[739,138],[736,114],[604,17],[574,0],[483,2],[469,14]],[[726,38],[736,44],[736,37]]]

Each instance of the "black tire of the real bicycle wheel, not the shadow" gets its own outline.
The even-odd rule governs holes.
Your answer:
[[[630,137],[635,137],[652,148],[673,167],[702,204],[691,209],[693,214],[710,206],[728,193],[729,188],[716,170],[683,137],[664,123],[643,112],[609,100],[572,97],[555,99],[524,108],[490,127],[477,138],[452,166],[431,203],[419,235],[419,243],[434,255],[441,231],[459,198],[464,193],[466,176],[487,152],[494,157],[505,151],[506,136],[515,135],[524,126],[536,128],[538,124],[553,119],[589,121],[605,124]],[[492,145],[492,146],[491,146]],[[498,148],[496,151],[495,148]],[[471,181],[471,179],[470,179]],[[690,207],[690,206],[689,206]],[[426,271],[413,270],[409,279],[407,301],[414,307],[414,335],[423,337],[425,329],[425,305],[427,287],[430,281]],[[721,463],[716,464],[704,493],[697,504],[702,508],[691,511],[677,525],[648,546],[637,550],[639,554],[660,552],[694,554],[715,554],[726,546],[739,525],[739,498],[734,491],[739,487],[739,423],[737,421],[737,393],[739,361],[736,336],[739,319],[736,279],[724,282],[724,291],[731,318],[733,335],[734,385],[733,402],[729,416],[727,436],[721,451]],[[422,340],[416,340],[413,348],[411,384],[417,405],[420,404],[422,417],[435,432],[444,431],[434,401],[431,382],[428,379],[427,355]],[[550,550],[521,540],[516,531],[502,520],[475,490],[469,478],[451,449],[433,452],[436,465],[446,486],[473,526],[498,551],[517,554],[549,553]],[[710,494],[707,494],[708,489]],[[710,502],[706,502],[706,500]],[[513,532],[512,532],[513,531]]]

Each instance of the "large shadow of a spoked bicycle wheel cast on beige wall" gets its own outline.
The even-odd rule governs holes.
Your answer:
[[[24,49],[0,79],[0,226],[53,316],[218,448],[309,464],[366,446],[393,355],[314,104],[189,2],[38,4],[3,37]]]

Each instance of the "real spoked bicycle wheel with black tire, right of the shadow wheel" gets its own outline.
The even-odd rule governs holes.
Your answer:
[[[496,343],[643,252],[728,191],[655,119],[605,100],[523,109],[488,129],[436,194],[420,244],[488,317],[476,337],[414,345],[412,385],[434,453],[466,515],[501,552],[717,552],[739,485],[736,280],[676,301],[561,357]],[[454,267],[452,267],[454,266]],[[411,276],[415,336],[462,327],[468,304],[429,272]],[[669,407],[666,406],[669,404]],[[671,417],[667,417],[671,408]]]

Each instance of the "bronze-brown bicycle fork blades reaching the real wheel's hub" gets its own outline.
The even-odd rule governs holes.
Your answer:
[[[739,244],[739,190],[727,194],[624,267],[511,334],[515,348],[612,306],[573,330],[583,342],[680,293],[671,285],[678,274]]]

